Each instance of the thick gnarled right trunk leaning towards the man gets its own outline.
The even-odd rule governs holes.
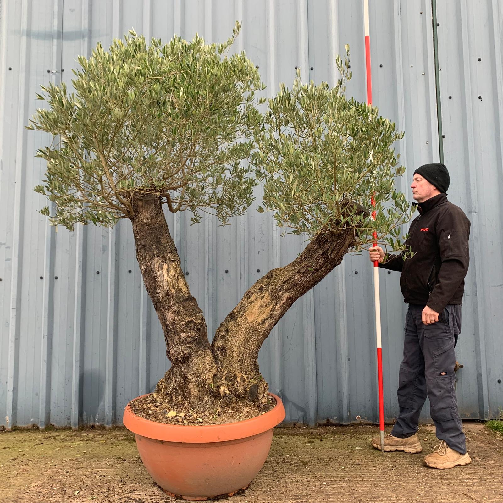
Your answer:
[[[227,315],[212,352],[233,396],[267,403],[268,385],[258,364],[262,344],[291,305],[342,262],[353,238],[351,229],[318,235],[297,259],[257,281]]]

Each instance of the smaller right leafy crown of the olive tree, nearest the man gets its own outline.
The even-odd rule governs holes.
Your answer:
[[[393,144],[403,133],[376,107],[346,97],[349,62],[346,45],[344,63],[337,57],[341,78],[336,87],[303,83],[297,70],[292,89],[282,83],[268,101],[253,153],[265,182],[264,206],[294,234],[314,237],[352,227],[357,247],[370,242],[374,230],[379,240],[400,246],[399,226],[408,219],[410,204],[395,190],[395,178],[405,167]]]

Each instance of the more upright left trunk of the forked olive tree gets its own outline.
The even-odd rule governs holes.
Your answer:
[[[133,199],[133,235],[143,282],[159,318],[172,366],[157,392],[174,404],[204,407],[211,402],[216,365],[206,321],[180,267],[158,196]]]

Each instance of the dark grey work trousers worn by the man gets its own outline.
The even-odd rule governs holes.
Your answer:
[[[424,325],[421,320],[424,307],[409,304],[407,309],[398,380],[400,412],[391,434],[406,438],[417,432],[419,415],[428,396],[437,438],[464,454],[466,439],[454,389],[454,347],[461,331],[461,305],[447,306],[439,321],[431,325]]]

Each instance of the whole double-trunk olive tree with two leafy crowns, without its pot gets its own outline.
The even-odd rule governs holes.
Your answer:
[[[347,99],[349,49],[337,64],[335,88],[281,86],[266,103],[256,66],[230,55],[239,32],[222,44],[175,37],[162,45],[130,32],[109,51],[100,44],[79,57],[74,92],[43,87],[48,108],[29,128],[53,135],[38,151],[47,161],[36,191],[53,225],[112,227],[132,223],[136,257],[159,317],[171,368],[157,400],[170,408],[206,409],[215,400],[267,407],[259,350],[290,306],[341,263],[349,250],[380,242],[401,246],[399,225],[409,205],[394,189],[403,173],[392,144],[402,137],[377,109]],[[244,294],[209,343],[191,295],[163,205],[201,212],[222,224],[242,214],[263,185],[259,211],[309,241],[290,264],[269,271]],[[370,218],[370,195],[378,216]],[[264,209],[265,208],[265,209]],[[160,396],[159,396],[160,395]]]

